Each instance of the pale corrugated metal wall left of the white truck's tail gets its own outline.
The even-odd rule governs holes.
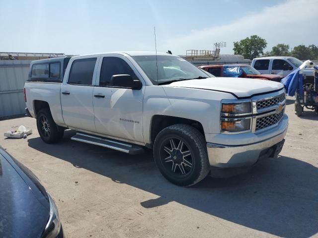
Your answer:
[[[0,60],[0,119],[25,114],[24,82],[31,60]]]

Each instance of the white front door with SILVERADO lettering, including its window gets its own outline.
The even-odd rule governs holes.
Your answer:
[[[101,58],[93,91],[96,132],[112,137],[143,142],[144,88],[133,90],[112,84],[113,75],[129,74],[143,82],[141,75],[125,57],[105,55]],[[145,85],[143,83],[143,85]]]

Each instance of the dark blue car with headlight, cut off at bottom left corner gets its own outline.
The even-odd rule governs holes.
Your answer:
[[[1,147],[0,237],[64,237],[53,199],[39,179]]]

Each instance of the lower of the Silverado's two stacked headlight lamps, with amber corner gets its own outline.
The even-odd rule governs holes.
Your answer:
[[[221,119],[221,130],[228,132],[239,132],[250,130],[251,119]]]

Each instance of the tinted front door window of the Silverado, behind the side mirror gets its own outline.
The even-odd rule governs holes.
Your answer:
[[[116,74],[129,74],[133,79],[137,79],[133,69],[125,60],[118,57],[104,57],[100,69],[99,85],[112,86],[110,79]]]

